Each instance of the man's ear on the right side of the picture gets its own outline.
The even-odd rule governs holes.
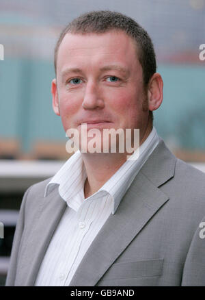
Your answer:
[[[149,110],[157,110],[163,101],[163,79],[159,73],[152,75],[148,85]]]

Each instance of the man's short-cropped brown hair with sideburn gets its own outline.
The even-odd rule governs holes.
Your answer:
[[[88,34],[105,33],[112,29],[118,29],[131,36],[138,46],[138,59],[143,69],[143,83],[147,86],[150,78],[156,72],[156,56],[152,40],[145,29],[143,29],[133,18],[125,16],[120,12],[100,10],[87,12],[74,18],[61,32],[55,46],[54,66],[57,69],[57,51],[59,45],[67,33]]]

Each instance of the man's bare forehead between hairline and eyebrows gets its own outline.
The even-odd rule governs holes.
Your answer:
[[[121,62],[132,66],[137,59],[133,38],[125,32],[112,30],[103,34],[66,34],[59,45],[57,66],[64,64],[98,64]]]

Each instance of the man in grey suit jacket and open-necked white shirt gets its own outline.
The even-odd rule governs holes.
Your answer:
[[[59,37],[55,72],[53,110],[79,151],[25,192],[6,285],[203,286],[205,175],[152,125],[163,81],[146,31],[118,12],[83,14]],[[115,153],[112,140],[81,151],[90,129],[139,129],[139,158],[119,139]]]

